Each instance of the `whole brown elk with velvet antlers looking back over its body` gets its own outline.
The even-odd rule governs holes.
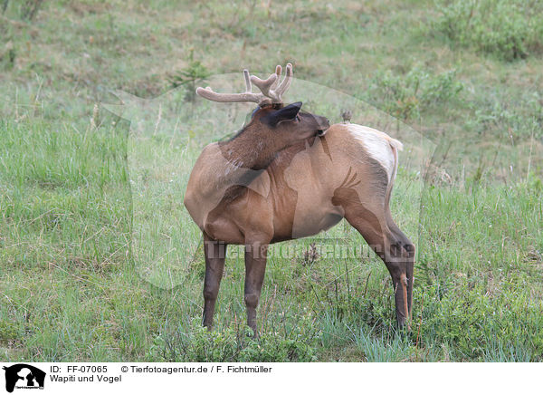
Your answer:
[[[243,71],[246,92],[196,93],[210,101],[258,104],[232,139],[209,144],[195,162],[185,206],[202,230],[205,250],[203,324],[211,327],[226,246],[245,246],[247,324],[256,334],[268,246],[318,234],[345,218],[385,263],[399,326],[408,325],[414,245],[392,219],[389,200],[402,143],[386,133],[284,105],[292,65],[267,80]],[[252,92],[252,84],[260,93]]]

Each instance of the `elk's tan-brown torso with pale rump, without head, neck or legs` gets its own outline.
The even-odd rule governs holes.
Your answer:
[[[316,235],[344,216],[334,200],[338,188],[352,188],[360,204],[382,211],[401,148],[379,130],[335,124],[323,137],[282,150],[243,185],[243,172],[253,170],[236,168],[211,144],[196,161],[185,204],[202,230],[227,243]]]

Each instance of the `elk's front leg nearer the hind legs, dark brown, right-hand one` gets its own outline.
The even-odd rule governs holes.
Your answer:
[[[266,271],[268,245],[252,243],[245,245],[245,306],[247,307],[247,325],[254,335],[256,330],[256,307],[262,291]]]

